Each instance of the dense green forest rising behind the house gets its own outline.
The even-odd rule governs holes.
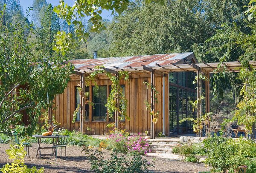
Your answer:
[[[3,24],[19,20],[34,28],[27,32],[29,40],[36,43],[33,54],[51,56],[55,34],[75,30],[46,0],[34,0],[32,10],[26,12],[19,0],[0,0],[1,9],[4,3]],[[255,43],[242,47],[244,40],[239,37],[255,33],[255,23],[244,14],[246,5],[248,0],[168,0],[164,4],[134,0],[122,14],[113,14],[112,21],[103,19],[106,29],[99,33],[92,32],[92,23],[81,18],[87,40],[75,38],[74,48],[64,57],[91,58],[93,51],[98,51],[99,57],[194,52],[199,62],[236,61],[239,57],[253,60]],[[228,116],[239,102],[241,81],[236,74],[224,74],[214,81],[211,111]]]

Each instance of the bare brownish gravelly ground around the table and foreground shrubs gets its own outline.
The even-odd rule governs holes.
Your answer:
[[[48,144],[41,144],[41,146],[51,146]],[[11,162],[8,159],[8,155],[5,150],[9,149],[9,144],[0,144],[0,167],[3,167],[7,162]],[[51,156],[43,156],[42,159],[35,158],[37,144],[32,144],[29,149],[30,158],[25,157],[25,163],[28,167],[44,167],[45,173],[91,173],[90,163],[84,153],[81,152],[81,148],[77,146],[67,146],[67,160],[64,156],[64,150],[62,150],[62,158],[58,157],[57,161],[55,158],[51,159]],[[51,153],[51,149],[42,149],[42,154]],[[59,156],[58,150],[58,156]],[[111,152],[104,151],[105,155],[108,156]],[[145,156],[149,162],[154,157]],[[155,158],[155,167],[151,167],[150,171],[154,173],[198,173],[200,171],[209,171],[209,167],[205,167],[203,163],[190,163],[177,161],[172,159]]]

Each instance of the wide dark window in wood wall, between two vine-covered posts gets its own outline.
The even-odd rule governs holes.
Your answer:
[[[107,86],[93,86],[93,121],[106,121],[107,119]]]

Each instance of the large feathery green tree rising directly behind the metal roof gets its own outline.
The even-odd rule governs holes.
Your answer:
[[[137,0],[114,18],[110,52],[127,56],[194,51],[199,61],[214,62],[218,59],[204,58],[205,41],[222,23],[241,23],[245,4],[241,0],[172,0],[160,5]]]

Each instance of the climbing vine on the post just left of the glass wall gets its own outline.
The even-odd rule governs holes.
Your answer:
[[[153,93],[154,93],[154,95],[153,95],[153,97],[154,97],[154,103],[157,103],[157,102],[158,102],[158,100],[157,100],[157,94],[158,94],[159,92],[156,90],[156,88],[155,88],[152,84],[148,83],[147,81],[144,81],[143,83],[147,86],[147,89],[148,89],[148,87],[150,87],[150,88],[153,90]],[[152,122],[153,122],[154,124],[156,124],[157,121],[158,121],[158,114],[159,114],[159,111],[155,111],[154,109],[152,109],[152,108],[151,108],[151,104],[148,102],[148,100],[145,100],[145,105],[146,105],[146,110],[150,110],[150,115],[153,116]]]

